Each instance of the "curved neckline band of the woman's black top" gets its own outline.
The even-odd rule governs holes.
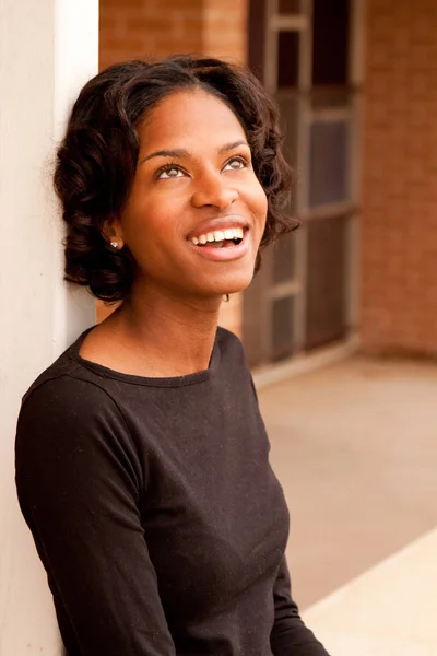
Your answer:
[[[130,383],[133,385],[145,385],[149,387],[182,387],[185,385],[196,385],[198,383],[203,383],[213,377],[215,372],[218,368],[220,364],[220,328],[215,333],[215,340],[213,350],[211,353],[210,365],[206,370],[201,372],[196,372],[193,374],[187,374],[185,376],[172,376],[172,377],[147,377],[147,376],[137,376],[134,374],[123,374],[122,372],[118,372],[110,367],[104,366],[103,364],[98,364],[96,362],[92,362],[91,360],[86,360],[79,354],[82,342],[88,332],[93,330],[94,326],[87,328],[80,335],[76,341],[70,347],[69,355],[70,358],[80,364],[81,366],[94,372],[95,374],[105,377],[113,378],[115,380],[120,380],[122,383]]]

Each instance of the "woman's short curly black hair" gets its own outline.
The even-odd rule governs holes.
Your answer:
[[[291,171],[281,152],[279,113],[250,71],[191,55],[116,63],[82,89],[54,174],[67,224],[64,278],[87,285],[97,298],[123,300],[132,285],[129,248],[111,249],[104,229],[120,215],[131,190],[139,156],[137,127],[164,97],[191,87],[221,98],[246,132],[253,171],[268,198],[261,248],[297,225],[287,212]]]

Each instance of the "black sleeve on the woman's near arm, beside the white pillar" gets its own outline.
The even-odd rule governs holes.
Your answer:
[[[92,383],[44,383],[24,400],[16,485],[67,651],[172,656],[139,513],[144,472],[123,418]]]

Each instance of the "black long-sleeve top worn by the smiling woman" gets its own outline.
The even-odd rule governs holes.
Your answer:
[[[239,340],[206,371],[120,374],[86,333],[34,383],[16,484],[69,656],[327,656],[284,558],[288,514]]]

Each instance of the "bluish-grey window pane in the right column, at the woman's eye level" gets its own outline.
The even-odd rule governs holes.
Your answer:
[[[349,121],[316,121],[310,128],[309,206],[347,200]]]

